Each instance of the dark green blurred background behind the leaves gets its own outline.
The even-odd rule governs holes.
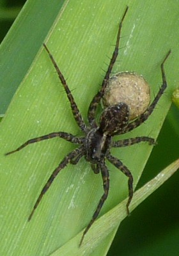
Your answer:
[[[26,1],[0,1],[2,41]],[[161,6],[162,8],[162,6]],[[162,127],[137,188],[152,179],[179,156],[179,109],[174,105]],[[179,173],[169,179],[120,225],[108,256],[179,254]]]

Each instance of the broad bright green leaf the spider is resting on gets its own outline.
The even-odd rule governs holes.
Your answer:
[[[26,6],[33,2],[29,1]],[[160,63],[169,49],[172,53],[165,65],[168,88],[157,108],[145,124],[127,134],[128,136],[125,134],[119,138],[157,138],[171,104],[171,92],[176,87],[178,75],[178,10],[174,2],[65,1],[61,12],[54,19],[52,29],[49,26],[45,31],[45,43],[67,79],[86,120],[89,103],[98,92],[104,77],[102,70],[106,70],[111,58],[118,22],[127,4],[129,10],[123,23],[122,48],[118,56],[120,62],[116,63],[114,71],[130,70],[143,74],[151,84],[153,99],[153,94],[157,93],[162,83]],[[38,15],[39,22],[44,22],[44,15],[48,17],[45,10],[48,8],[43,1]],[[28,18],[34,18],[33,21],[38,24],[36,17],[31,17],[30,13]],[[22,16],[20,19],[22,22]],[[29,31],[30,28],[31,26]],[[13,35],[13,29],[11,33]],[[15,49],[20,51],[22,41],[18,44],[19,47]],[[34,48],[36,41],[31,38],[28,45]],[[22,81],[23,77],[23,81],[0,126],[1,255],[50,255],[55,252],[86,227],[103,193],[100,175],[95,175],[83,158],[77,165],[67,166],[58,175],[32,220],[27,222],[43,185],[75,145],[54,139],[30,145],[11,156],[5,157],[4,153],[19,147],[29,138],[50,132],[81,134],[54,67],[41,45],[39,41],[35,50],[39,49],[38,54],[33,62],[31,57],[31,68],[28,71],[29,66],[24,69],[24,75],[19,80]],[[16,54],[18,56],[18,51]],[[20,58],[15,62],[15,74],[20,72],[17,65],[19,61]],[[11,66],[11,72],[13,69]],[[6,79],[8,76],[4,77]],[[112,154],[131,170],[135,186],[151,150],[152,146],[145,143],[112,150]],[[113,209],[128,194],[127,177],[111,164],[108,166],[111,187],[100,216]],[[98,236],[103,235],[101,231],[98,231]],[[95,253],[105,255],[114,234],[115,231],[105,234],[104,241]],[[85,239],[89,239],[88,246],[92,246],[93,236],[90,233],[89,236],[86,234]],[[73,248],[77,246],[75,240],[68,250],[73,253]]]

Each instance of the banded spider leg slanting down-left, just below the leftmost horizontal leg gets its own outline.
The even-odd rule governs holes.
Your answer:
[[[75,157],[79,156],[79,154],[82,156],[82,151],[83,151],[83,147],[81,148],[76,148],[75,150],[73,150],[72,152],[70,152],[67,156],[64,157],[64,159],[61,161],[61,163],[59,164],[59,166],[54,170],[54,172],[52,172],[51,177],[49,178],[49,180],[47,180],[45,186],[43,187],[40,195],[38,196],[38,199],[36,200],[36,203],[33,207],[33,211],[31,212],[31,214],[29,215],[28,221],[31,220],[36,207],[38,207],[38,204],[40,203],[40,201],[42,200],[42,196],[47,192],[47,190],[50,188],[52,182],[54,181],[54,179],[56,178],[56,176],[58,175],[58,173],[65,168],[65,166],[70,163],[70,161],[72,161],[72,159],[74,159]]]

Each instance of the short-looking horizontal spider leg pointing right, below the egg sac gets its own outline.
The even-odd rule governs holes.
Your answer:
[[[140,142],[148,142],[150,145],[155,145],[155,140],[153,138],[142,136],[142,137],[130,138],[126,140],[113,141],[112,147],[114,148],[127,147]]]

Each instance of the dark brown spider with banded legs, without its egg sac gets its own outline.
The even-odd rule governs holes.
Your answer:
[[[70,152],[67,156],[63,158],[61,163],[59,163],[58,167],[52,172],[51,177],[49,177],[49,180],[47,180],[46,184],[43,186],[43,189],[38,196],[38,199],[36,200],[36,203],[33,207],[33,210],[31,211],[31,214],[29,215],[28,221],[31,220],[36,207],[38,207],[38,204],[42,200],[43,195],[47,192],[47,190],[50,188],[53,180],[56,178],[58,173],[65,168],[67,164],[77,164],[82,156],[91,164],[91,168],[94,173],[101,173],[102,180],[103,180],[103,188],[104,193],[100,198],[100,201],[98,202],[97,209],[95,210],[91,220],[89,221],[87,227],[85,228],[81,241],[80,246],[82,244],[82,241],[84,239],[84,236],[88,232],[89,228],[93,224],[93,222],[97,219],[98,214],[100,213],[100,210],[102,209],[102,206],[104,205],[105,200],[107,199],[107,195],[109,192],[109,170],[107,169],[107,166],[105,164],[105,161],[109,161],[112,163],[118,170],[123,172],[127,178],[128,178],[128,202],[127,202],[127,214],[129,214],[128,206],[130,205],[130,202],[132,200],[133,196],[133,177],[130,170],[128,170],[127,166],[125,166],[120,159],[117,159],[114,156],[111,156],[110,149],[111,147],[127,147],[130,145],[134,145],[136,143],[140,142],[148,142],[150,145],[155,144],[155,140],[153,138],[149,138],[146,136],[142,137],[136,137],[136,138],[129,138],[125,140],[119,140],[119,141],[113,141],[113,136],[124,134],[129,131],[132,131],[139,125],[143,124],[145,120],[148,119],[148,117],[152,114],[153,109],[155,108],[157,102],[159,101],[162,93],[164,93],[164,90],[166,89],[167,83],[166,83],[166,76],[164,72],[164,62],[166,61],[167,57],[169,56],[170,52],[167,52],[166,57],[162,61],[162,64],[160,65],[161,72],[162,72],[162,86],[159,89],[159,92],[157,93],[157,96],[153,100],[152,104],[144,111],[143,114],[138,116],[136,120],[133,120],[132,122],[129,122],[130,117],[130,111],[128,109],[127,104],[120,102],[120,104],[116,104],[113,106],[109,106],[104,109],[100,116],[99,124],[97,124],[95,120],[95,113],[97,110],[98,105],[100,104],[100,100],[104,96],[105,88],[107,86],[107,83],[109,81],[109,76],[111,74],[111,71],[113,69],[114,63],[116,61],[116,58],[118,56],[118,49],[120,44],[120,35],[121,35],[121,27],[123,24],[123,20],[125,19],[125,15],[127,13],[128,6],[125,9],[125,12],[123,13],[123,17],[121,18],[119,28],[118,28],[118,35],[116,39],[116,45],[114,48],[113,55],[111,57],[111,61],[109,63],[109,67],[107,68],[107,71],[105,72],[105,77],[102,81],[102,86],[98,93],[93,97],[91,100],[91,103],[88,108],[88,121],[89,125],[87,126],[84,123],[84,120],[81,116],[81,113],[77,107],[77,104],[75,103],[74,97],[72,93],[70,92],[70,89],[68,88],[68,85],[66,84],[65,77],[61,73],[61,70],[59,70],[59,67],[54,60],[51,52],[47,48],[47,45],[43,44],[45,47],[45,50],[47,51],[49,58],[52,61],[52,64],[54,65],[54,68],[56,69],[56,72],[58,73],[59,79],[61,81],[61,84],[63,85],[63,88],[65,89],[66,95],[68,97],[68,100],[70,102],[70,106],[72,109],[72,114],[74,115],[75,122],[77,122],[77,125],[81,129],[82,132],[84,132],[84,136],[77,137],[73,134],[70,134],[68,132],[52,132],[50,134],[40,136],[38,138],[33,138],[31,140],[27,140],[23,145],[21,145],[19,148],[6,153],[6,155],[13,154],[14,152],[17,152],[21,150],[22,148],[26,147],[27,145],[31,143],[36,143],[38,141],[42,140],[48,140],[51,138],[59,137],[63,138],[66,141],[70,141],[71,143],[79,145],[78,148],[75,148]]]

